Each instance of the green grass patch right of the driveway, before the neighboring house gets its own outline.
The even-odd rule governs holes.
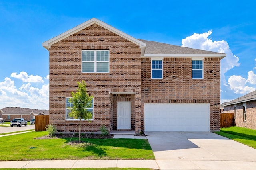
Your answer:
[[[215,133],[256,149],[256,130],[243,127],[228,127],[221,128],[220,132]]]

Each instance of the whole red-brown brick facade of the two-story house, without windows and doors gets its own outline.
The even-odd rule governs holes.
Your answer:
[[[109,50],[109,73],[82,73],[82,50]],[[220,57],[204,58],[204,79],[192,79],[192,58],[163,58],[163,79],[151,79],[151,59],[139,45],[97,24],[54,44],[50,49],[50,124],[59,132],[77,131],[65,119],[66,97],[84,80],[94,96],[94,118],[82,121],[83,132],[105,125],[117,129],[117,102],[131,102],[131,130],[144,130],[144,103],[209,103],[210,131],[220,129]],[[217,107],[214,107],[214,104]]]

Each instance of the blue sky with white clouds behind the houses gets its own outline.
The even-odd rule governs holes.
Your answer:
[[[256,90],[256,2],[251,0],[2,0],[0,108],[49,109],[42,43],[91,18],[128,35],[227,53],[221,102]]]

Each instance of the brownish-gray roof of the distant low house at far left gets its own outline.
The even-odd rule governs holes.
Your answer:
[[[49,114],[49,110],[38,110],[38,109],[29,109],[29,108],[20,108],[20,107],[5,107],[1,109],[3,114],[10,115],[30,115],[32,112],[34,115],[38,115],[39,113]]]

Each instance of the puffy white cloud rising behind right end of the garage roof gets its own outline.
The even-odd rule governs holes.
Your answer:
[[[208,39],[208,37],[212,34],[212,31],[208,31],[207,33],[194,33],[191,36],[182,39],[183,47],[190,47],[195,49],[202,49],[208,51],[214,51],[218,53],[226,53],[226,57],[221,60],[220,72],[221,72],[221,81],[227,86],[226,79],[224,73],[233,68],[234,66],[239,66],[238,63],[239,58],[232,53],[229,49],[229,45],[226,41],[212,41]]]

